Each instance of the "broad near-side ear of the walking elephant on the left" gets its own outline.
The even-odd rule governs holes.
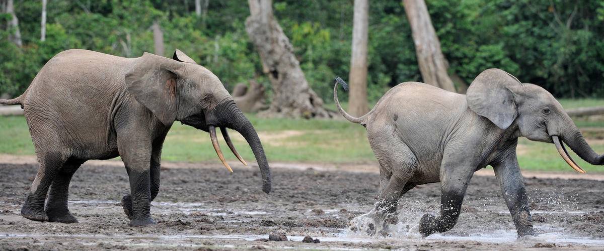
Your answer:
[[[145,52],[126,73],[126,89],[164,125],[176,119],[179,62]]]

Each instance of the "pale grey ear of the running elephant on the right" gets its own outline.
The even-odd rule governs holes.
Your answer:
[[[499,128],[506,129],[518,116],[514,94],[510,89],[521,85],[515,76],[503,70],[484,70],[467,88],[467,105]]]

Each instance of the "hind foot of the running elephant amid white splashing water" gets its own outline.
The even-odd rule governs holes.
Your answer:
[[[396,225],[398,217],[396,213],[376,212],[359,215],[350,221],[350,230],[361,232],[369,236],[378,234],[382,237],[391,236],[390,225]]]

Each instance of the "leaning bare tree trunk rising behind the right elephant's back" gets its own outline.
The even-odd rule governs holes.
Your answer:
[[[417,63],[423,82],[448,91],[455,91],[447,73],[448,63],[440,51],[439,38],[430,20],[428,8],[423,0],[403,0],[405,13],[411,25],[411,35],[416,47]]]

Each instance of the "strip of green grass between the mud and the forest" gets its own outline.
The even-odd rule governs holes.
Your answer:
[[[565,107],[584,107],[604,105],[604,100],[562,99]],[[347,107],[347,103],[343,104]],[[331,105],[330,108],[335,108]],[[358,163],[375,162],[375,157],[367,141],[365,128],[345,120],[304,120],[304,119],[260,119],[248,115],[259,132],[270,161],[300,161],[314,163]],[[588,137],[600,138],[591,140],[591,146],[598,153],[604,153],[604,121],[575,120],[581,128],[602,128],[602,131],[591,130]],[[220,132],[218,132],[220,134]],[[243,158],[249,161],[254,156],[247,143],[237,132],[232,132],[234,144]],[[220,137],[225,157],[237,161],[230,153],[226,143]],[[0,117],[0,153],[14,155],[34,155],[33,144],[22,116]],[[573,154],[574,160],[588,172],[604,172],[602,167],[591,166]],[[175,123],[170,130],[162,152],[167,161],[216,161],[216,152],[210,143],[207,133],[190,126]],[[573,172],[560,158],[553,144],[519,140],[518,161],[525,170],[562,170]]]

